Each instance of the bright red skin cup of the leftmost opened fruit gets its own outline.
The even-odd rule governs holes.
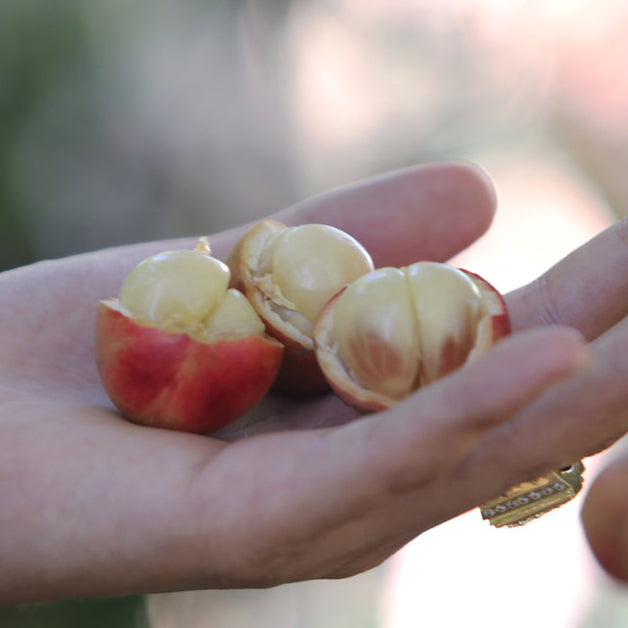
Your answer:
[[[252,335],[204,343],[142,325],[101,301],[96,365],[111,401],[129,420],[207,434],[242,416],[271,387],[277,341]]]

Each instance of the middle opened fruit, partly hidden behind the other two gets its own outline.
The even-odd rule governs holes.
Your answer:
[[[314,321],[334,294],[373,270],[364,247],[328,225],[286,227],[264,220],[240,240],[228,263],[232,285],[285,345],[275,387],[290,393],[327,390],[314,355]]]

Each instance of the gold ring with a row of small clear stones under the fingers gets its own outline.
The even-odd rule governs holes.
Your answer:
[[[480,506],[482,518],[498,528],[522,526],[572,500],[582,488],[581,461],[521,482]]]

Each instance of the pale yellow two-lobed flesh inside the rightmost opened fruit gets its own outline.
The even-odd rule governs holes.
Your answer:
[[[464,273],[418,262],[351,284],[336,302],[333,338],[355,379],[400,399],[464,362],[484,314],[482,296]]]

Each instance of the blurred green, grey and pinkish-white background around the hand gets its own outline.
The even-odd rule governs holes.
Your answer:
[[[499,212],[459,261],[517,287],[628,213],[626,26],[619,0],[0,0],[0,270],[466,159]],[[343,582],[107,609],[155,628],[625,626],[578,508],[507,532],[470,513]],[[73,609],[0,626],[86,625]]]

